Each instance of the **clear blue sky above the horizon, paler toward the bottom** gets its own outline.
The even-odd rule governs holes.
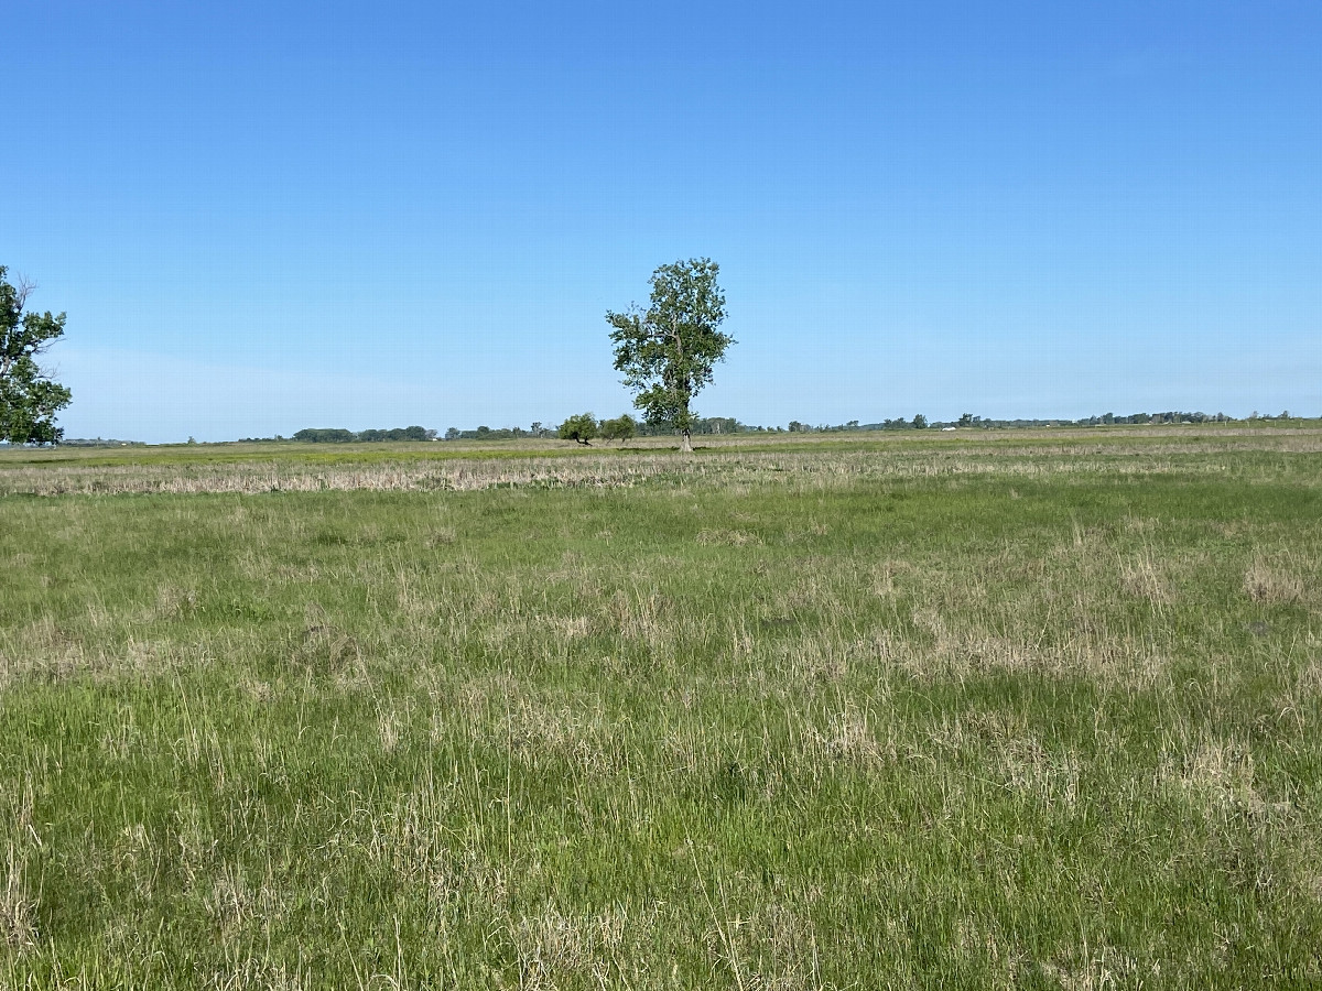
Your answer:
[[[750,423],[1322,414],[1322,4],[0,8],[69,436],[526,425],[720,263]]]

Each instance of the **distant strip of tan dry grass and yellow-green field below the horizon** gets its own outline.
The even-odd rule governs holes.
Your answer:
[[[1300,425],[1305,424],[1305,425]],[[723,482],[805,476],[1222,470],[1207,455],[1322,452],[1322,427],[1296,420],[1089,429],[839,432],[624,444],[522,440],[411,444],[215,444],[0,449],[0,495],[620,488],[654,478]],[[1136,456],[1145,456],[1136,461]]]

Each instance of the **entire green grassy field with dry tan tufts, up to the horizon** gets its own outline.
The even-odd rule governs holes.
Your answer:
[[[0,493],[4,986],[1322,984],[1319,431]]]

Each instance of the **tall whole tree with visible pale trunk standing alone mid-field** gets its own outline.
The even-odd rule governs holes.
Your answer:
[[[633,404],[653,427],[680,432],[681,451],[693,451],[698,415],[693,396],[711,382],[711,369],[735,342],[717,328],[726,318],[726,297],[717,285],[720,267],[710,258],[661,266],[652,274],[652,305],[607,312],[615,329],[615,370],[633,390]]]

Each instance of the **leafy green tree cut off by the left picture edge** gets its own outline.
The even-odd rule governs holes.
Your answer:
[[[70,392],[37,365],[37,355],[65,332],[65,314],[24,313],[36,288],[26,279],[11,285],[0,266],[0,440],[11,444],[57,444],[65,432],[56,412]]]

